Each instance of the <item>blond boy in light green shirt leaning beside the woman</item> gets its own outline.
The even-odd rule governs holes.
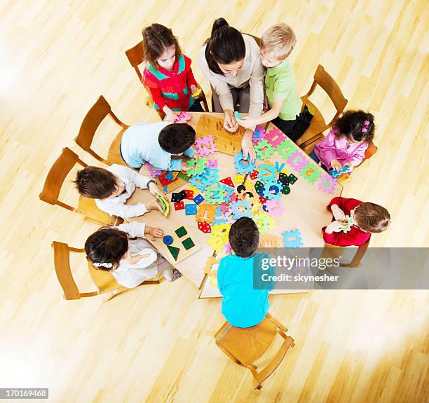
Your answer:
[[[264,88],[266,100],[271,108],[259,118],[245,117],[238,123],[252,128],[269,121],[294,142],[304,134],[313,115],[297,93],[294,70],[287,57],[292,52],[297,38],[286,24],[273,25],[261,37],[261,63],[266,67]]]

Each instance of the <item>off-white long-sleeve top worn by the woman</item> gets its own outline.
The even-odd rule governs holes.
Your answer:
[[[250,107],[249,116],[257,118],[261,116],[262,107],[264,104],[264,74],[265,68],[261,64],[261,58],[259,57],[259,46],[256,41],[249,35],[243,35],[246,46],[246,54],[243,67],[241,67],[237,76],[234,78],[231,74],[216,74],[211,71],[205,60],[205,48],[206,45],[201,48],[198,55],[198,64],[204,76],[210,81],[213,90],[219,97],[219,102],[222,109],[234,110],[233,96],[228,86],[235,88],[243,88],[250,85]]]

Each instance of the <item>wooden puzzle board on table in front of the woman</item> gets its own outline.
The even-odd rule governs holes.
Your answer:
[[[235,156],[236,153],[241,151],[241,139],[243,138],[245,129],[241,126],[231,133],[224,128],[224,119],[216,116],[203,114],[198,121],[196,127],[196,138],[203,138],[209,135],[214,139],[217,151]]]

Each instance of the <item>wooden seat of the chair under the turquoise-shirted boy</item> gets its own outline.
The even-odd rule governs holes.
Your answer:
[[[229,323],[214,336],[240,362],[251,363],[259,359],[273,343],[273,323],[265,317],[259,325],[247,328],[233,327]]]

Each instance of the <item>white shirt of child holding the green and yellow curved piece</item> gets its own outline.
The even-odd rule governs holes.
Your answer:
[[[121,179],[125,184],[125,191],[118,196],[95,199],[98,208],[110,215],[116,215],[122,218],[138,217],[147,212],[148,210],[144,203],[125,205],[125,202],[130,198],[132,193],[134,193],[136,186],[141,189],[147,189],[147,182],[151,178],[139,175],[138,172],[124,165],[114,164],[107,168],[107,170]]]

